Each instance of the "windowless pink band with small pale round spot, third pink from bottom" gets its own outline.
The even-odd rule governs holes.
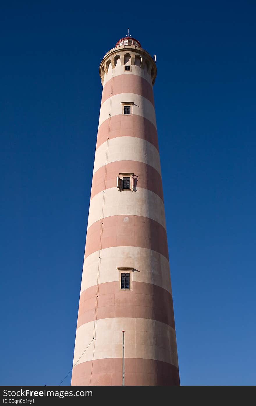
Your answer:
[[[100,248],[118,246],[151,249],[169,259],[166,231],[151,218],[120,215],[105,217],[103,225],[101,220],[96,221],[87,230],[85,258]]]

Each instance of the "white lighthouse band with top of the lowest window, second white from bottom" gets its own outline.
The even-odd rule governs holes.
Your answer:
[[[98,275],[100,256],[100,269]],[[81,293],[97,283],[115,282],[119,280],[117,267],[127,266],[133,272],[134,282],[152,283],[171,292],[171,276],[169,261],[164,255],[141,247],[109,247],[90,254],[83,263]],[[99,277],[99,279],[98,279]]]

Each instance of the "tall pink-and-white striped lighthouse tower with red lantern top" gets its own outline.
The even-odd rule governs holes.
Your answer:
[[[103,85],[72,385],[179,385],[153,84],[134,38],[100,63]],[[122,332],[124,330],[124,333]]]

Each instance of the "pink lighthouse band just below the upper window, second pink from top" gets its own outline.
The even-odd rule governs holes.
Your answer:
[[[107,141],[116,137],[138,137],[153,144],[158,150],[157,130],[151,121],[144,117],[132,114],[132,116],[123,116],[117,114],[103,121],[98,128],[96,149]]]

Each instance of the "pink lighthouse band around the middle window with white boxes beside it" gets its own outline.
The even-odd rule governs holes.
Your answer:
[[[106,166],[101,166],[92,177],[91,200],[99,192],[116,187],[116,178],[119,173],[134,173],[137,179],[136,188],[151,190],[162,200],[162,178],[160,173],[153,166],[138,161],[115,161],[107,164],[107,175],[105,182]]]

